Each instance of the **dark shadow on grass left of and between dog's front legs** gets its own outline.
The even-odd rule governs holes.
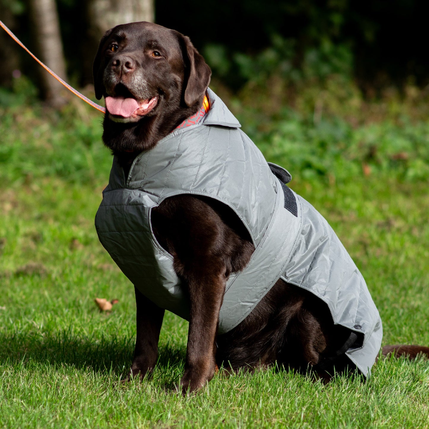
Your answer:
[[[60,331],[14,333],[0,332],[0,364],[49,363],[52,366],[91,368],[94,372],[111,372],[126,378],[134,352],[134,337],[101,336],[90,338],[73,329]],[[157,369],[171,370],[184,366],[185,350],[160,347]],[[169,386],[166,386],[167,388]]]

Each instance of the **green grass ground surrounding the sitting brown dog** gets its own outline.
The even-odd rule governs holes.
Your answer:
[[[0,427],[429,427],[425,359],[381,361],[366,383],[338,377],[323,385],[276,368],[221,371],[183,398],[175,384],[187,322],[169,313],[153,377],[122,384],[135,304],[93,225],[111,162],[100,116],[79,104],[60,113],[37,104],[0,110]],[[296,115],[273,115],[272,129],[251,135],[269,160],[290,169],[293,189],[328,219],[363,272],[383,344],[428,345],[429,122],[356,128]],[[371,136],[378,160],[360,154]],[[389,152],[390,140],[401,148]],[[404,162],[390,156],[398,151],[407,151]],[[418,160],[419,174],[407,174]],[[362,163],[371,174],[363,175]],[[95,297],[119,303],[100,314]]]

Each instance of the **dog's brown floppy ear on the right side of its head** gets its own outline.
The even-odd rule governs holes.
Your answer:
[[[195,49],[189,37],[181,33],[177,34],[185,66],[184,102],[187,106],[192,106],[204,95],[210,83],[211,69]]]

